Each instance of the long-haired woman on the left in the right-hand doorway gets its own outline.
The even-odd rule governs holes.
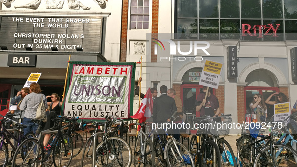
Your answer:
[[[250,108],[256,114],[258,122],[265,122],[267,118],[267,106],[264,101],[261,94],[254,94],[254,98],[250,103]]]

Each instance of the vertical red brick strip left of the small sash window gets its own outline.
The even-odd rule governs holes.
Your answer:
[[[128,2],[123,0],[122,5],[122,28],[121,28],[121,46],[120,46],[120,62],[126,62],[127,54],[127,31],[128,31]]]

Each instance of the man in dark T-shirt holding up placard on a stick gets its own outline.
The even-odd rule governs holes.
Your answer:
[[[219,106],[219,100],[218,98],[213,95],[213,88],[208,89],[207,87],[203,86],[203,93],[198,94],[195,106],[196,111],[200,112],[199,116],[211,116],[211,117],[217,117],[220,114],[220,106]],[[207,94],[207,97],[205,99],[205,95]]]

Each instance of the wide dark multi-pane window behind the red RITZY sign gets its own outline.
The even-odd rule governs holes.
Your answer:
[[[176,0],[175,39],[297,40],[296,9],[296,0]]]

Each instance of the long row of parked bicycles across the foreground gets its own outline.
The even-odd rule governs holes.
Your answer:
[[[1,166],[69,166],[80,153],[81,166],[297,166],[297,140],[288,128],[297,125],[294,121],[297,114],[283,120],[284,126],[271,129],[267,136],[260,134],[260,128],[243,131],[235,155],[236,150],[222,137],[229,134],[228,129],[198,129],[187,147],[167,129],[154,129],[150,123],[131,123],[129,126],[140,128],[135,142],[128,144],[119,137],[128,125],[112,116],[106,117],[105,122],[59,116],[53,119],[56,126],[44,131],[42,120],[33,119],[39,125],[36,134],[24,136],[25,125],[13,120],[15,115],[1,116]],[[231,122],[230,116],[215,117],[216,121],[213,117],[199,117],[194,121]],[[174,119],[171,117],[170,121]],[[15,128],[6,129],[11,123]],[[92,134],[85,142],[75,131],[90,126]],[[52,135],[43,144],[46,134]]]

